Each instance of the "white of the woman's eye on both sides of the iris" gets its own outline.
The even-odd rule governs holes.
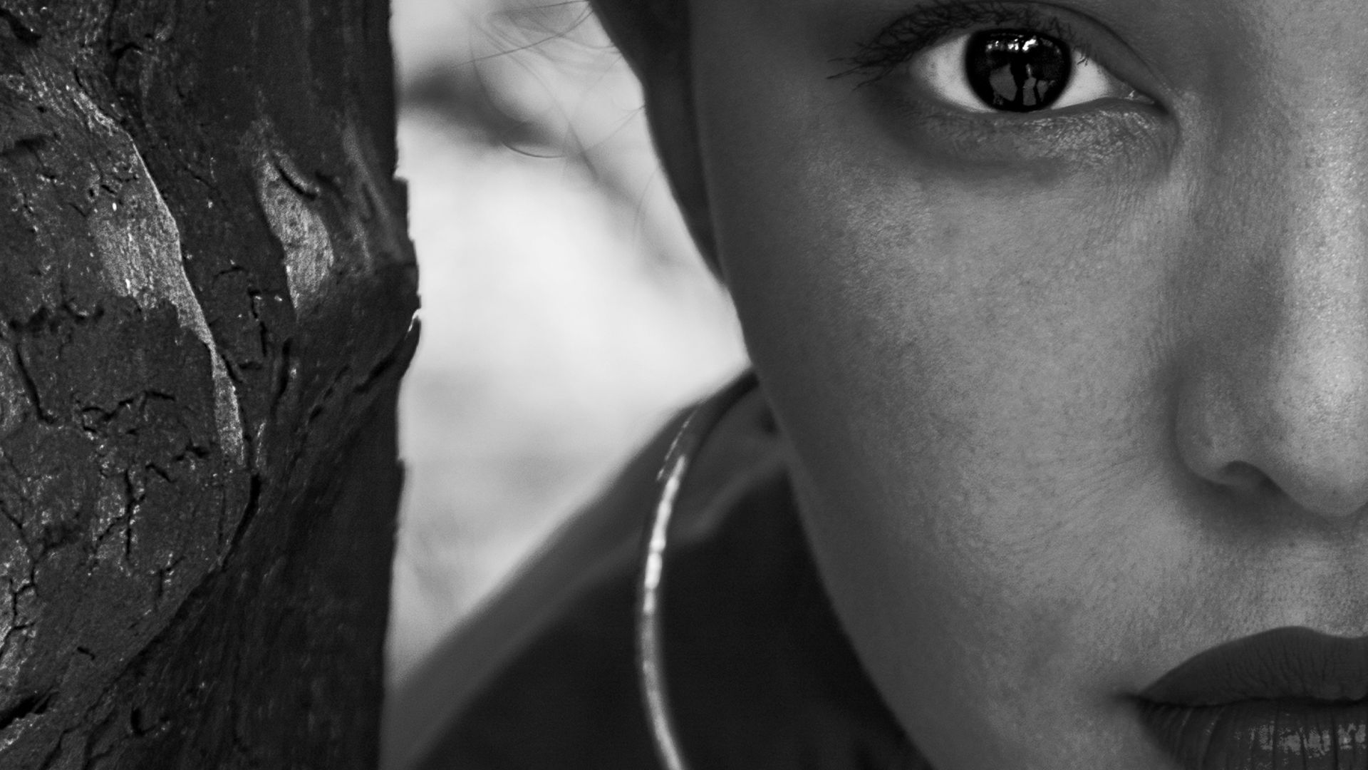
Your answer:
[[[969,52],[969,38],[973,33],[960,34],[928,51],[911,62],[911,75],[937,97],[970,112],[1000,112],[974,93],[964,73],[964,56]],[[1059,110],[1074,104],[1088,104],[1108,96],[1124,97],[1131,93],[1115,75],[1097,62],[1074,51],[1074,67],[1064,84],[1064,92],[1048,107]]]

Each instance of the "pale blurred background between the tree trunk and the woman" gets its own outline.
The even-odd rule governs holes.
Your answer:
[[[584,1],[394,0],[423,338],[390,686],[677,408],[744,366]]]

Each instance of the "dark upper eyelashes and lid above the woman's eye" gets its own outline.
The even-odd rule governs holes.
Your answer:
[[[833,78],[865,75],[860,86],[878,82],[893,74],[899,66],[951,37],[973,27],[1021,27],[1056,37],[1090,59],[1088,47],[1079,42],[1073,27],[1056,15],[1031,5],[986,1],[970,5],[955,0],[933,0],[917,12],[884,27],[874,40],[865,42],[850,58],[840,59],[848,69]]]

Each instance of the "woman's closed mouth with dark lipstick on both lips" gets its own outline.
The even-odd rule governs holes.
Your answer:
[[[1140,715],[1183,770],[1368,770],[1368,637],[1222,644],[1145,689]]]

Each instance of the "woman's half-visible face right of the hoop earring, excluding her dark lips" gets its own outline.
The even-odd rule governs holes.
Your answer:
[[[937,770],[1174,767],[1167,671],[1368,634],[1368,4],[691,3],[722,273]],[[1298,719],[1185,766],[1364,743]]]

